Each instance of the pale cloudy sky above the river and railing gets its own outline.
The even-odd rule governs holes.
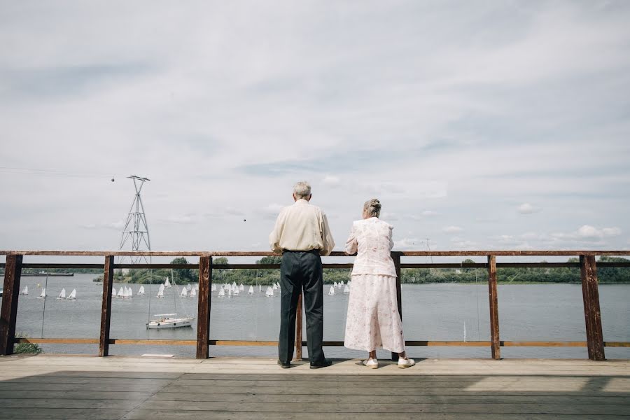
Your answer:
[[[0,0],[0,248],[630,248],[628,1]],[[112,182],[112,179],[114,180]],[[541,258],[538,258],[539,260]]]

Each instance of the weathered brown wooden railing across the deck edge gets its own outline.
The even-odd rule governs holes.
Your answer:
[[[99,356],[109,355],[110,344],[160,344],[160,345],[196,345],[197,358],[209,357],[209,346],[276,346],[276,341],[241,341],[210,339],[211,285],[213,269],[278,269],[279,264],[213,264],[213,257],[264,257],[276,255],[270,252],[254,251],[0,251],[6,255],[6,263],[0,264],[5,269],[4,295],[0,313],[0,354],[13,353],[15,343],[37,344],[99,344]],[[24,263],[25,255],[46,256],[101,256],[104,264],[66,264],[66,263]],[[605,360],[604,347],[630,347],[630,342],[604,342],[601,327],[596,267],[630,267],[628,262],[598,262],[596,255],[630,255],[630,251],[393,251],[393,258],[398,280],[398,311],[402,317],[402,299],[400,288],[400,270],[403,268],[486,268],[488,269],[488,291],[490,308],[490,341],[406,341],[407,346],[489,346],[493,359],[500,359],[501,346],[586,346],[589,359]],[[199,257],[199,264],[115,264],[116,256],[145,257]],[[333,252],[334,257],[348,257],[343,252]],[[407,263],[402,264],[402,257],[474,257],[484,256],[485,263]],[[580,262],[503,262],[497,263],[497,256],[579,256]],[[326,263],[324,268],[351,268],[351,263]],[[586,342],[542,342],[542,341],[501,341],[499,335],[497,267],[580,267],[582,279],[582,297],[584,302],[584,321]],[[104,270],[101,328],[99,338],[64,339],[64,338],[16,338],[15,323],[18,314],[20,276],[22,268],[98,268]],[[117,268],[195,268],[199,269],[199,302],[197,306],[197,340],[157,340],[157,339],[117,339],[109,335],[111,321],[111,292],[113,273]],[[302,300],[298,303],[296,325],[297,359],[302,358]],[[324,346],[342,346],[341,341],[323,342]],[[395,353],[392,358],[395,360]]]

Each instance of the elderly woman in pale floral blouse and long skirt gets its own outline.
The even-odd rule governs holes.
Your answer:
[[[344,346],[369,352],[363,364],[379,367],[377,347],[398,353],[398,367],[415,365],[405,354],[396,300],[396,271],[391,259],[393,226],[379,220],[381,203],[363,204],[363,220],[352,223],[346,253],[357,253],[352,269]]]

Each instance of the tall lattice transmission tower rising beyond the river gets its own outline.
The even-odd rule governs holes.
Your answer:
[[[127,178],[134,181],[136,195],[134,196],[134,202],[132,202],[132,206],[129,210],[129,215],[127,216],[127,223],[125,223],[125,228],[123,229],[123,237],[120,238],[119,249],[120,251],[123,251],[123,248],[131,242],[132,251],[151,251],[151,239],[149,239],[148,225],[146,223],[146,215],[144,214],[144,205],[142,205],[142,197],[140,197],[142,186],[144,186],[146,181],[151,180],[135,175],[127,176]],[[130,259],[131,264],[137,264],[143,261],[148,263],[151,259],[137,256],[123,256],[118,258],[118,264],[125,262],[126,258]]]

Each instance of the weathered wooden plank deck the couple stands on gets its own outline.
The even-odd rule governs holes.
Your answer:
[[[0,357],[1,419],[622,419],[630,360]]]

